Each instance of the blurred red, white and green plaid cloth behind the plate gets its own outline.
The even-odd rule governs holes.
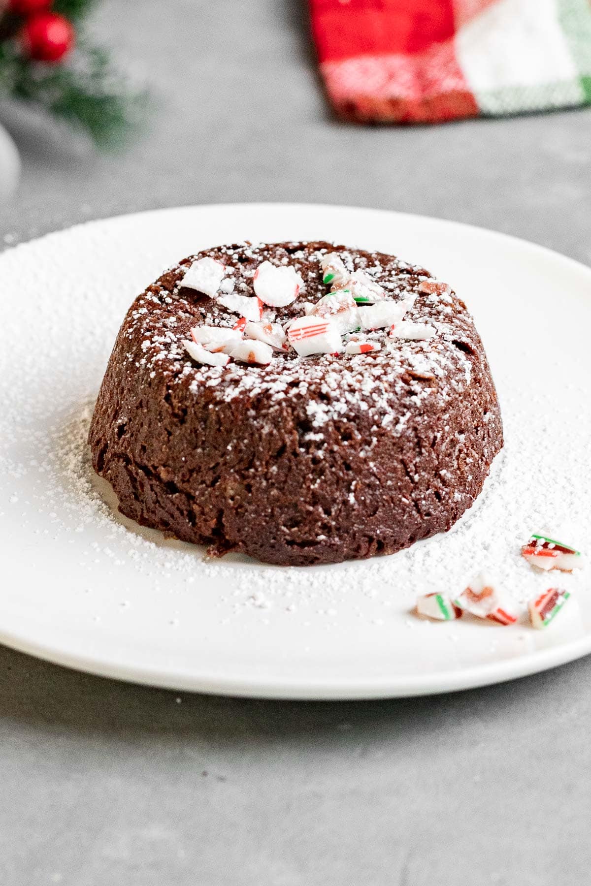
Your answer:
[[[310,0],[348,120],[439,122],[591,103],[591,0]]]

